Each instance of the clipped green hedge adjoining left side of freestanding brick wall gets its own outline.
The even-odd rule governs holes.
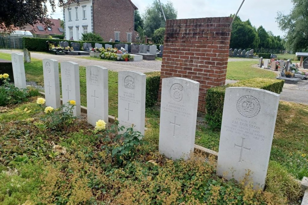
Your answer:
[[[151,107],[157,101],[160,82],[160,72],[144,73],[147,75],[145,90],[145,107]]]

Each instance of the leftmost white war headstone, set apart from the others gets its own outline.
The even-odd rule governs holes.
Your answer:
[[[15,87],[19,89],[27,88],[25,66],[23,64],[23,54],[12,53],[11,57]]]

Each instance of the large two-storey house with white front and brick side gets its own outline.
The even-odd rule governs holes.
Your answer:
[[[134,42],[134,11],[131,0],[80,0],[63,11],[65,39],[80,40],[82,34],[94,32],[104,41]]]

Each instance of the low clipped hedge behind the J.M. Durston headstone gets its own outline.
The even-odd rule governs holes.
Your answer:
[[[222,111],[224,108],[225,90],[228,87],[251,87],[268,90],[280,94],[284,80],[276,80],[269,78],[253,78],[249,80],[239,81],[234,84],[228,84],[211,88],[206,93],[206,115],[205,120],[212,129],[221,128]]]

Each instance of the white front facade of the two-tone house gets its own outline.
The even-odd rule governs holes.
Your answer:
[[[79,1],[79,6],[72,3],[63,6],[64,38],[78,41],[82,34],[93,33],[93,8],[92,0]]]

